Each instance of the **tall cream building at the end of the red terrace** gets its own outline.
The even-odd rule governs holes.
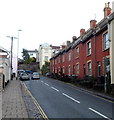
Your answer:
[[[40,69],[45,64],[45,61],[49,61],[52,56],[52,48],[48,43],[41,44],[39,46],[39,65]]]

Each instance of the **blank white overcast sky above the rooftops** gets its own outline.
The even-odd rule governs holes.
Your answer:
[[[40,44],[62,45],[88,30],[90,20],[104,17],[105,3],[114,0],[0,0],[0,46],[13,53],[38,49]],[[18,30],[22,30],[18,32]]]

